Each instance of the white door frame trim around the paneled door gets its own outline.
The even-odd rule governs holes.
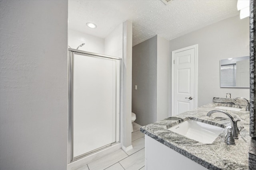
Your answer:
[[[185,47],[185,48],[182,48],[182,49],[178,49],[178,50],[175,50],[175,51],[172,51],[172,82],[171,82],[171,86],[172,86],[172,91],[171,91],[171,96],[172,96],[172,103],[171,103],[171,115],[169,116],[172,116],[173,113],[174,113],[174,54],[175,53],[178,53],[178,52],[181,52],[181,51],[185,51],[185,50],[189,50],[189,49],[194,49],[195,51],[195,57],[194,57],[194,108],[197,108],[198,107],[198,44],[196,45],[191,45],[189,47]]]

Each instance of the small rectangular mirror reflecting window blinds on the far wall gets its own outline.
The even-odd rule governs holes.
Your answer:
[[[220,87],[250,87],[250,57],[236,57],[220,61]]]

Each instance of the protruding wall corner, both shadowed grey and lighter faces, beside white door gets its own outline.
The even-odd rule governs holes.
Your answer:
[[[132,66],[135,122],[144,126],[167,118],[169,41],[156,35],[135,45],[132,48]]]

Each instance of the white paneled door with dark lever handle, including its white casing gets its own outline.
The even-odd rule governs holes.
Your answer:
[[[197,107],[197,45],[172,51],[172,116]]]

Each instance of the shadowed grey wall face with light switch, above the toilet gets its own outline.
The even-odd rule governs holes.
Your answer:
[[[134,90],[137,85],[138,90]],[[132,47],[132,112],[135,123],[144,126],[156,121],[157,35]]]

